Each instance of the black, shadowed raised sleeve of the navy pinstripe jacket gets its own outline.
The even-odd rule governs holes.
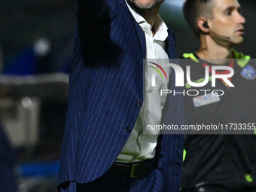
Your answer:
[[[78,40],[85,64],[99,65],[111,50],[111,20],[115,0],[77,0]],[[104,59],[103,59],[104,58]]]

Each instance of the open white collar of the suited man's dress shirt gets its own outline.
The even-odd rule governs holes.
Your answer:
[[[126,1],[125,1],[126,2]],[[142,17],[136,10],[134,10],[129,3],[126,2],[127,7],[129,8],[130,12],[133,14],[134,19],[137,23],[139,23],[139,26],[142,27],[143,31],[145,31],[145,24],[150,28],[151,26],[147,23],[147,21]],[[168,37],[168,27],[166,26],[166,23],[163,22],[162,18],[157,14],[157,19],[154,22],[155,29],[157,29],[154,39],[158,41],[165,41]]]

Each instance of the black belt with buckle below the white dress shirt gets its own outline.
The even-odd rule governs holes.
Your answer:
[[[139,178],[148,175],[156,167],[156,160],[145,160],[138,163],[113,163],[108,169],[120,175],[128,175],[130,178]]]

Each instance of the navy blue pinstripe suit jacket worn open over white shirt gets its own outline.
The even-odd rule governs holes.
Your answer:
[[[69,106],[59,168],[59,183],[99,178],[120,154],[143,102],[145,33],[124,0],[77,1]],[[175,57],[175,37],[166,39]],[[172,88],[175,73],[172,72]],[[178,91],[178,90],[177,90]],[[183,123],[183,99],[169,98],[169,118]],[[158,169],[167,191],[179,189],[183,136],[164,135]]]

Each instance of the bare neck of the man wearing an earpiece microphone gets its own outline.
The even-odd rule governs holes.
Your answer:
[[[230,46],[217,44],[209,35],[200,35],[200,49],[197,51],[200,59],[232,59],[233,53]]]

